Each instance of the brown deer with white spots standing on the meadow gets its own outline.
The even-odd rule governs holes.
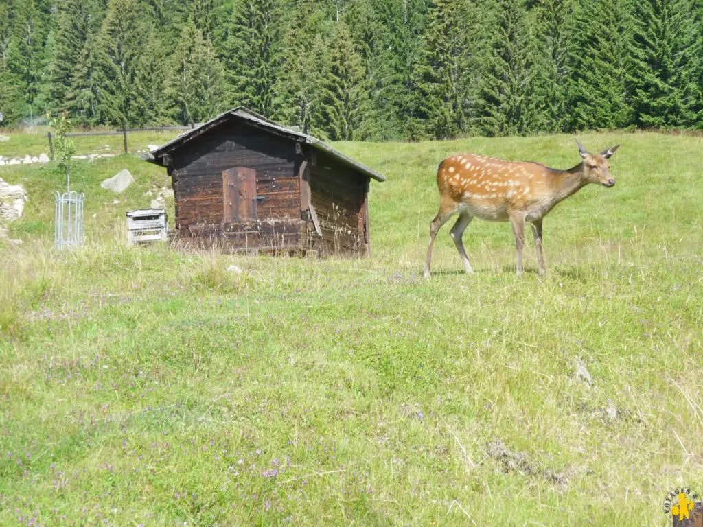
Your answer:
[[[425,260],[425,278],[430,278],[434,238],[451,216],[458,219],[451,228],[464,271],[473,273],[466,255],[463,234],[474,218],[510,221],[517,249],[517,275],[522,275],[522,247],[525,223],[531,224],[536,245],[538,273],[547,272],[542,249],[542,222],[549,212],[589,183],[615,186],[608,160],[620,148],[615,145],[591,154],[576,141],[581,163],[568,170],[552,169],[536,162],[512,162],[474,154],[446,157],[437,167],[439,212],[430,223],[430,247]]]

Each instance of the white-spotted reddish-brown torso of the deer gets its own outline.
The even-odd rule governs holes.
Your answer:
[[[512,209],[538,205],[548,190],[547,171],[538,163],[453,155],[439,164],[437,187],[443,202],[451,199],[482,219],[507,221]]]

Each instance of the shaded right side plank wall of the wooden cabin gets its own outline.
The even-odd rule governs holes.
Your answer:
[[[367,179],[324,152],[311,157],[311,202],[322,230],[311,245],[322,254],[366,254]]]

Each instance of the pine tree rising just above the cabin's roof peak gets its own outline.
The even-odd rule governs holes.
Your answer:
[[[266,116],[275,110],[278,15],[278,0],[238,0],[224,49],[231,103]]]

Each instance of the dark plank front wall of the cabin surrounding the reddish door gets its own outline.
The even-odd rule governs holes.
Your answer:
[[[219,126],[172,153],[176,228],[217,225],[224,219],[222,171],[257,171],[259,219],[300,219],[295,142],[241,122]],[[185,232],[184,232],[185,233]]]

